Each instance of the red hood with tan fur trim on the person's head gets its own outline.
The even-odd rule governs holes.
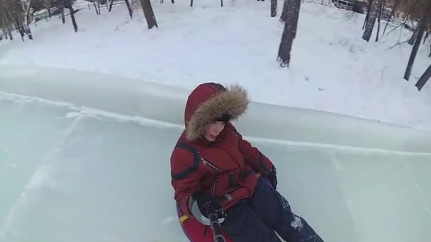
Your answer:
[[[197,86],[189,95],[184,112],[186,139],[198,139],[206,125],[223,115],[236,120],[245,113],[249,103],[247,91],[239,85],[225,88],[219,83],[203,83]]]

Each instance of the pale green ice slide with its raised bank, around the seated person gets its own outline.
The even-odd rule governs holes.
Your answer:
[[[0,241],[186,241],[169,155],[188,93],[0,67]],[[237,129],[325,241],[430,240],[430,132],[262,103]]]

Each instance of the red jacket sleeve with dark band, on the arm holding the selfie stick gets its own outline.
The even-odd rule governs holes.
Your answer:
[[[201,174],[198,171],[199,163],[194,154],[189,151],[177,149],[171,156],[171,182],[174,188],[174,199],[179,204],[181,212],[193,217],[189,211],[189,197],[201,190]]]

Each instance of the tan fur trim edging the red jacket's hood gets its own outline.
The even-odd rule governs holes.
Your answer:
[[[206,125],[225,113],[232,115],[232,120],[237,120],[245,113],[249,103],[244,88],[239,85],[230,86],[227,91],[218,93],[199,106],[186,127],[187,139],[198,139],[205,132]]]

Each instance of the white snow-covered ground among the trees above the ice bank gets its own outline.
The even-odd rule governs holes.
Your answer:
[[[33,25],[33,42],[0,41],[0,64],[80,69],[186,88],[237,82],[262,103],[431,128],[430,85],[421,92],[414,86],[431,62],[427,45],[410,82],[403,72],[411,46],[387,50],[410,38],[409,30],[366,43],[364,15],[349,18],[333,6],[304,3],[288,70],[276,63],[283,25],[279,16],[269,17],[269,1],[231,0],[223,8],[219,1],[196,1],[194,8],[188,1],[152,4],[158,29],[147,30],[141,11],[131,21],[124,4],[111,13],[102,7],[101,16],[90,4],[76,13],[78,33],[69,18],[65,26],[56,17]],[[281,8],[279,1],[279,13]]]

